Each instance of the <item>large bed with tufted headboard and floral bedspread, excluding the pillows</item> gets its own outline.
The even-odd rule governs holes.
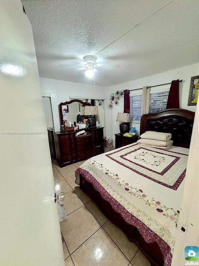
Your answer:
[[[167,109],[142,116],[140,134],[172,134],[168,150],[133,143],[92,157],[76,170],[81,190],[154,266],[171,265],[194,114]]]

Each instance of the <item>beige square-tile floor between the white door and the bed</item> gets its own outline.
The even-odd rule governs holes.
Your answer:
[[[150,266],[137,246],[76,185],[74,173],[83,162],[60,168],[52,159],[55,192],[64,192],[68,215],[60,223],[65,266]]]

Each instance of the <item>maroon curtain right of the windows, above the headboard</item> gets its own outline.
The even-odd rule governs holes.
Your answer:
[[[166,109],[169,108],[179,108],[179,80],[171,82]]]

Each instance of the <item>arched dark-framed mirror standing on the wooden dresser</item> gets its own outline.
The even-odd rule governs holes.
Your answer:
[[[90,103],[81,101],[79,99],[73,99],[69,102],[59,104],[59,119],[60,128],[63,125],[63,120],[70,121],[72,124],[77,121],[77,116],[80,115],[81,106],[90,106]]]

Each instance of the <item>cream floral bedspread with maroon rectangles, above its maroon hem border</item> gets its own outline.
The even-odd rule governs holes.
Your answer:
[[[89,172],[128,212],[163,239],[173,253],[188,151],[134,143],[92,157],[79,168]]]

